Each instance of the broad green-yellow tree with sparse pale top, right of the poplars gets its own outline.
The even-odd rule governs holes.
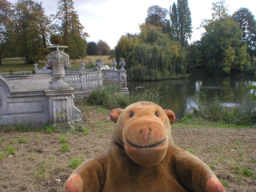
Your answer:
[[[234,74],[250,66],[246,44],[237,22],[227,14],[225,1],[213,3],[212,19],[206,20],[201,39],[202,65],[210,74]]]

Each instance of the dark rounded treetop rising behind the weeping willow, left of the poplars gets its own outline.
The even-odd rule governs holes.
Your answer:
[[[166,15],[168,10],[160,6],[150,6],[147,10],[146,25],[159,26],[166,33]]]

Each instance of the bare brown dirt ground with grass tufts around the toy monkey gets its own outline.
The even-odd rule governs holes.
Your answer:
[[[83,111],[86,132],[0,131],[0,192],[62,191],[74,162],[102,154],[114,123],[109,110]],[[89,130],[89,131],[88,131]],[[174,123],[174,142],[197,155],[227,191],[256,191],[256,128],[214,128]]]

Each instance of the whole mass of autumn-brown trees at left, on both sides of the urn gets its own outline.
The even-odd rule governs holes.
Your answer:
[[[58,0],[54,16],[46,15],[42,2],[1,0],[0,58],[25,57],[26,63],[38,62],[46,57],[52,34],[62,36],[70,58],[85,57],[88,34],[83,29],[72,0]]]

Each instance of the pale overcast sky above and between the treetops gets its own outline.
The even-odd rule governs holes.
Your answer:
[[[203,29],[197,29],[204,18],[211,18],[212,3],[219,0],[188,0],[193,34],[191,42],[199,40]],[[15,3],[17,0],[9,0]],[[39,0],[46,14],[55,14],[58,0]],[[88,42],[107,42],[111,49],[117,45],[118,39],[126,33],[139,33],[139,25],[145,22],[146,10],[158,5],[169,10],[177,0],[73,0],[74,9],[78,11],[79,19],[90,35]],[[256,17],[256,0],[226,0],[230,14],[241,7],[248,8]],[[168,19],[169,16],[168,16]]]

